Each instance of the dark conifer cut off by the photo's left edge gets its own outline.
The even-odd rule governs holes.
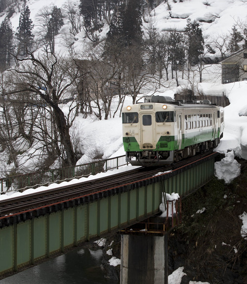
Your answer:
[[[5,69],[10,66],[13,51],[13,30],[10,20],[5,18],[0,26],[0,67]]]

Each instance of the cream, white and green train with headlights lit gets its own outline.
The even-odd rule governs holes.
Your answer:
[[[145,96],[122,111],[126,162],[160,166],[213,150],[223,137],[224,108],[203,101]]]

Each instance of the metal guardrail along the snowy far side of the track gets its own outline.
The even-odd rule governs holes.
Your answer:
[[[0,178],[0,194],[10,191],[23,192],[28,188],[37,188],[54,182],[60,183],[62,181],[69,181],[75,177],[80,178],[89,176],[90,174],[95,175],[96,173],[106,172],[110,169],[118,169],[120,166],[126,164],[128,163],[125,161],[125,155],[123,155],[75,166],[7,176]]]

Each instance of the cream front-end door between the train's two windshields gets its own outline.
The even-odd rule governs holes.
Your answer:
[[[141,149],[154,149],[156,147],[154,131],[154,115],[153,114],[142,114],[141,115]]]

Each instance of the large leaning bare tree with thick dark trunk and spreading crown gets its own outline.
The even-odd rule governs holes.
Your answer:
[[[69,132],[71,127],[70,118],[66,118],[59,107],[59,101],[79,74],[74,61],[51,53],[38,56],[29,53],[28,58],[17,58],[17,60],[20,64],[19,67],[16,66],[10,70],[15,75],[15,80],[12,82],[12,87],[7,94],[32,94],[35,100],[41,102],[45,107],[48,106],[53,120],[53,127],[56,128],[54,133],[58,135],[57,145],[61,144],[60,151],[63,164],[74,165],[77,159]]]

